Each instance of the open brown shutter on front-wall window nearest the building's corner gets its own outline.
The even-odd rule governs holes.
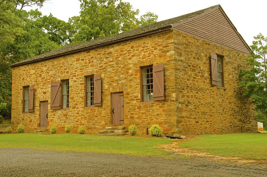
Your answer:
[[[153,100],[164,99],[163,64],[153,66]]]

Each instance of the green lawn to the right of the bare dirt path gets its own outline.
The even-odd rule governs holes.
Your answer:
[[[210,155],[267,160],[267,134],[205,135],[179,143],[179,145],[208,152]]]

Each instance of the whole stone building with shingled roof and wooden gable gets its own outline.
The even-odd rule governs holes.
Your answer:
[[[12,128],[256,132],[238,87],[250,51],[220,5],[65,46],[11,65]]]

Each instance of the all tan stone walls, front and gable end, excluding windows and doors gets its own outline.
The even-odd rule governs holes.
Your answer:
[[[225,88],[211,85],[210,52],[224,55]],[[39,102],[48,100],[48,128],[64,132],[79,125],[98,133],[111,124],[111,93],[123,91],[124,126],[145,133],[152,124],[163,132],[210,134],[256,132],[250,100],[241,98],[239,69],[245,54],[174,30],[119,44],[12,68],[12,127],[39,128]],[[165,99],[141,102],[140,66],[164,64]],[[102,105],[85,107],[85,75],[101,74]],[[67,110],[50,109],[50,83],[69,78]],[[34,110],[22,112],[23,86],[34,86]]]

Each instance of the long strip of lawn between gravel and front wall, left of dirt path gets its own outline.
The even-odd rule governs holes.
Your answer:
[[[105,152],[135,156],[163,156],[169,152],[156,148],[159,144],[170,144],[171,139],[139,138],[122,136],[95,136],[86,134],[15,133],[1,134],[0,148],[31,148],[60,152]]]

